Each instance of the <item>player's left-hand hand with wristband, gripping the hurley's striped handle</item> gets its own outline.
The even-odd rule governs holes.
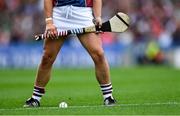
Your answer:
[[[56,26],[52,22],[46,23],[46,30],[44,32],[45,38],[57,39],[58,32]]]

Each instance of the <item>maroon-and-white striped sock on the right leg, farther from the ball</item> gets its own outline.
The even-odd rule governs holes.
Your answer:
[[[103,93],[103,98],[106,99],[108,97],[112,97],[112,92],[113,92],[113,88],[112,88],[112,84],[101,84],[101,91]]]

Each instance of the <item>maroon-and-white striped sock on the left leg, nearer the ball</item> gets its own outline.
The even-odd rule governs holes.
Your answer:
[[[45,94],[45,89],[43,87],[34,86],[32,98],[40,102],[41,97]]]

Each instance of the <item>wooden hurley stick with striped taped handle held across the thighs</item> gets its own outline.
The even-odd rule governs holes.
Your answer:
[[[92,32],[124,32],[128,29],[130,23],[129,16],[119,12],[114,17],[112,17],[110,20],[104,22],[99,28],[99,26],[90,26],[86,28],[79,28],[79,29],[73,29],[73,30],[67,30],[67,31],[61,31],[58,32],[58,36],[66,36],[69,34],[83,34],[83,33],[92,33]],[[35,40],[42,40],[44,39],[43,34],[38,34],[35,36]]]

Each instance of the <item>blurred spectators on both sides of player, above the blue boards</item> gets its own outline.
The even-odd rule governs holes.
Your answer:
[[[104,21],[119,11],[131,17],[130,29],[102,34],[104,44],[141,46],[156,41],[163,49],[180,46],[179,0],[103,0]],[[33,41],[44,26],[43,0],[0,0],[1,45]]]

